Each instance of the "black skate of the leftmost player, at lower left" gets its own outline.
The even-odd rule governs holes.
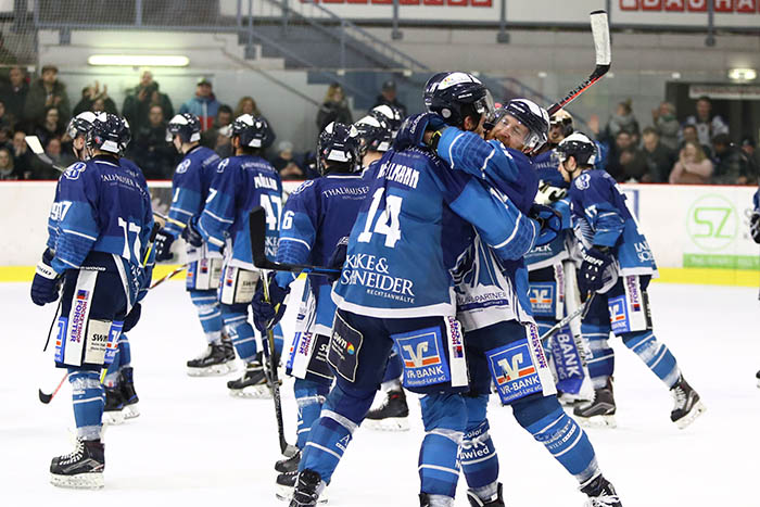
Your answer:
[[[97,490],[103,487],[105,455],[100,440],[77,440],[72,454],[50,462],[50,483],[59,487]]]

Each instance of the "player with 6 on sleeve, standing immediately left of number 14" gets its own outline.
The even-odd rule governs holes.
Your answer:
[[[347,237],[369,183],[362,177],[359,134],[352,125],[331,123],[317,141],[317,168],[321,178],[305,181],[286,202],[280,227],[277,261],[289,264],[327,266],[335,245]],[[286,295],[295,276],[280,271],[269,283],[270,303],[264,302],[259,287],[253,299],[255,321],[262,333],[278,312],[284,312]],[[319,417],[325,396],[330,391],[332,372],[327,348],[335,316],[330,297],[331,284],[324,276],[309,276],[302,302],[296,333],[291,346],[287,371],[295,378],[293,391],[299,407],[296,446],[299,454],[278,461],[275,468],[278,497],[290,498],[295,485],[301,449],[314,421]]]

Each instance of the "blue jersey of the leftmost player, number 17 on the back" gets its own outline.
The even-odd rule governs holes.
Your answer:
[[[61,176],[48,219],[52,267],[78,269],[90,252],[112,254],[131,307],[150,281],[143,263],[152,228],[148,185],[132,162],[103,155],[77,162]]]

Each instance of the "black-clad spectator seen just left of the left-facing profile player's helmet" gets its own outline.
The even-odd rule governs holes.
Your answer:
[[[166,142],[166,121],[160,104],[151,105],[148,125],[143,125],[132,141],[132,157],[145,179],[170,179],[177,164],[177,151]]]

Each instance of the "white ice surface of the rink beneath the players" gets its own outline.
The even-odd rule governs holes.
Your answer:
[[[50,405],[37,389],[61,378],[41,354],[55,305],[31,304],[28,284],[0,284],[0,506],[278,506],[279,457],[273,402],[227,394],[227,378],[190,378],[185,362],[203,348],[194,309],[180,282],[145,301],[129,334],[142,415],[105,435],[105,489],[59,490],[51,457],[71,452],[74,428],[66,385]],[[670,422],[668,390],[620,341],[617,430],[591,430],[605,474],[625,507],[760,506],[757,493],[760,368],[757,290],[654,284],[656,334],[668,344],[708,411],[681,431]],[[283,389],[288,439],[294,440],[292,382]],[[417,506],[419,404],[413,430],[359,429],[330,486],[334,506]],[[581,506],[584,496],[544,449],[492,400],[507,505]],[[468,505],[465,481],[456,505]]]

